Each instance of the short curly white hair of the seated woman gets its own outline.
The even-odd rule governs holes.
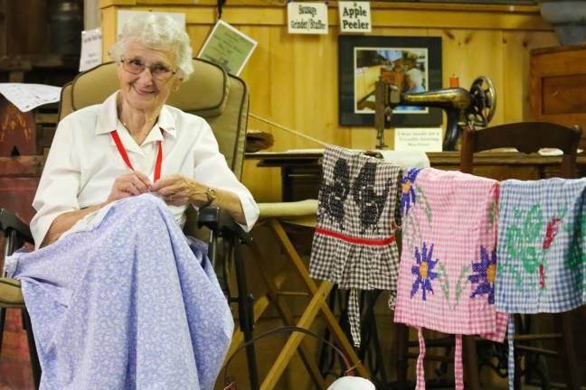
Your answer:
[[[175,65],[179,79],[185,81],[194,72],[192,48],[184,27],[171,16],[147,14],[132,17],[124,23],[118,42],[110,48],[112,60],[124,55],[128,42],[138,42],[148,49],[175,51]]]

